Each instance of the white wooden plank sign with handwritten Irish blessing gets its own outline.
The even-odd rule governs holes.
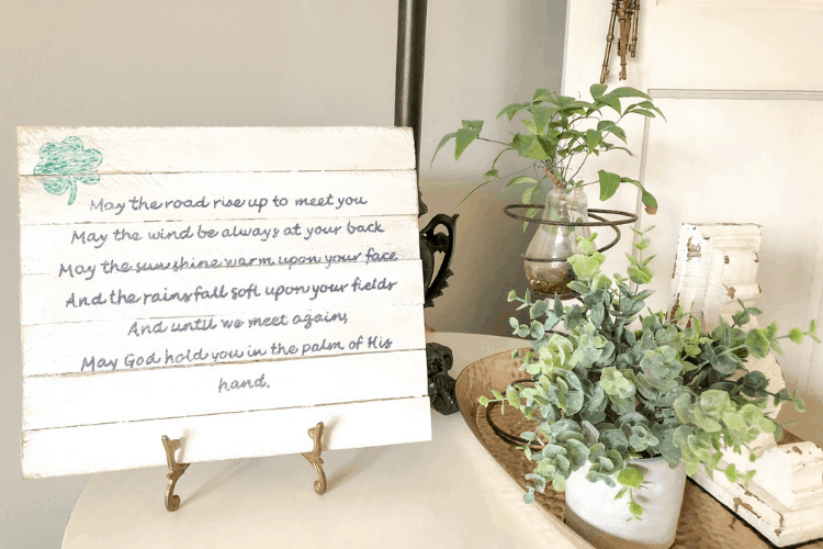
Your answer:
[[[408,128],[18,144],[25,478],[431,438]]]

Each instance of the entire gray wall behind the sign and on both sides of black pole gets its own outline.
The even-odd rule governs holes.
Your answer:
[[[396,10],[386,0],[2,7],[0,547],[59,547],[86,482],[21,480],[15,126],[392,125]],[[565,2],[548,0],[430,2],[421,187],[430,213],[461,215],[455,274],[427,311],[439,330],[506,332],[501,298],[522,289],[529,235],[500,213],[512,197],[489,190],[458,208],[491,148],[428,163],[461,117],[492,121],[539,86],[559,88],[564,18]]]

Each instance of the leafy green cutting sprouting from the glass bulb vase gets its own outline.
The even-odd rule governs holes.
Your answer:
[[[503,150],[495,157],[492,168],[485,172],[484,182],[476,186],[463,200],[481,187],[500,180],[508,180],[506,187],[526,187],[522,192],[523,204],[535,202],[541,191],[551,190],[555,186],[570,192],[573,188],[599,181],[600,200],[611,198],[621,183],[631,183],[640,189],[646,211],[656,212],[657,201],[636,179],[602,169],[598,171],[598,181],[590,183],[578,179],[578,176],[591,155],[622,150],[634,156],[631,150],[617,143],[627,144],[625,131],[619,125],[623,117],[655,117],[655,113],[661,116],[663,113],[646,93],[635,88],[622,87],[607,92],[606,85],[595,83],[589,88],[589,93],[591,101],[585,101],[541,88],[534,92],[531,101],[506,107],[497,115],[498,119],[506,115],[511,122],[518,114],[526,115],[518,124],[518,128],[525,131],[511,133],[508,143],[482,137],[482,120],[464,120],[460,130],[443,136],[431,163],[435,163],[437,154],[451,139],[454,139],[454,160],[460,159],[473,142],[485,141],[501,145]],[[622,104],[621,100],[628,104]],[[618,115],[617,121],[606,119],[606,110],[613,110]],[[500,176],[497,161],[504,154],[512,150],[526,159],[526,166],[512,173]],[[539,209],[531,208],[526,215],[533,217],[538,212]]]

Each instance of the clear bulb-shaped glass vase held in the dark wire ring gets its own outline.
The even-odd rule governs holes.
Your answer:
[[[561,223],[588,223],[588,201],[582,188],[564,193],[552,189],[545,199],[544,221]],[[567,258],[579,254],[578,236],[589,236],[585,226],[563,226],[540,224],[526,250],[526,278],[532,290],[545,294],[574,293],[567,284],[574,280],[574,270]],[[530,259],[555,259],[532,261]],[[559,259],[559,260],[557,260]]]

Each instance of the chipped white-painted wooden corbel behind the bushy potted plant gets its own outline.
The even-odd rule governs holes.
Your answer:
[[[759,225],[684,224],[669,314],[678,307],[691,307],[709,329],[720,318],[731,324],[732,315],[740,310],[737,300],[752,306],[760,293],[756,280],[759,242]],[[756,317],[752,317],[748,327],[757,327]],[[771,354],[763,359],[749,358],[746,368],[762,371],[769,379],[770,392],[786,386]],[[768,404],[765,412],[776,417],[779,406]],[[765,433],[749,447],[758,457],[754,463],[747,451],[737,455],[723,450],[719,464],[724,469],[733,463],[740,472],[755,469],[757,473],[747,489],[729,482],[722,473],[710,478],[700,471],[695,481],[778,547],[823,537],[823,450],[812,442],[776,446],[774,436]]]

